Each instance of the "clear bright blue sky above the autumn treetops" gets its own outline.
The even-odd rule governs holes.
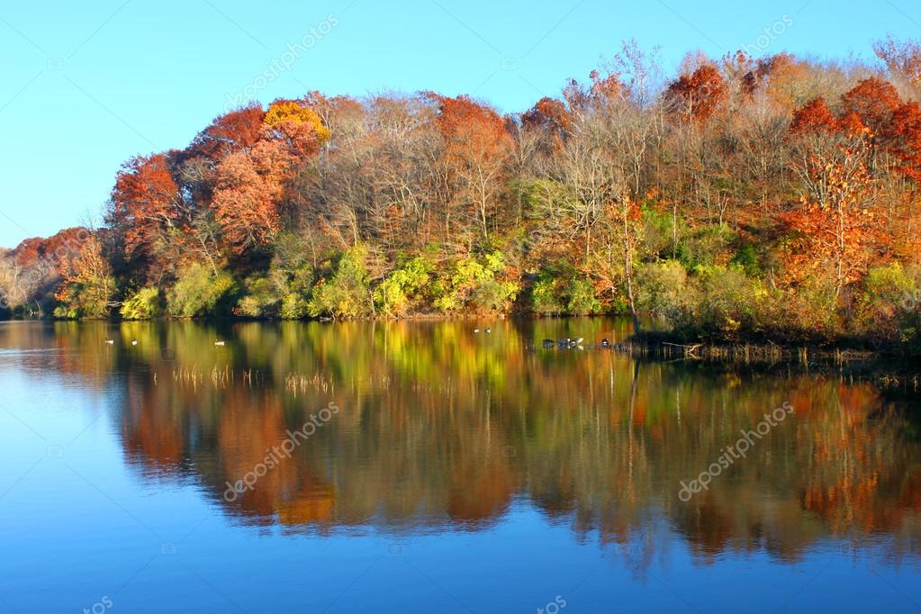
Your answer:
[[[765,28],[780,33],[759,41]],[[228,97],[244,91],[269,102],[308,89],[352,95],[434,89],[515,111],[557,94],[568,76],[585,77],[602,54],[630,37],[644,47],[661,45],[670,70],[690,50],[720,56],[759,44],[764,53],[871,58],[871,41],[886,32],[921,36],[921,6],[912,0],[6,2],[0,5],[0,245],[98,215],[122,161],[187,145]],[[289,43],[302,45],[293,63],[293,54],[285,55]],[[271,82],[257,80],[267,68]]]

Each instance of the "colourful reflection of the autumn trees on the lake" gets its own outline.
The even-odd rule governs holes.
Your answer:
[[[611,320],[492,330],[57,323],[6,326],[0,347],[56,348],[63,374],[114,385],[112,419],[139,479],[197,483],[244,525],[481,531],[524,504],[638,565],[674,538],[702,563],[762,550],[795,562],[829,540],[856,552],[884,539],[891,561],[919,553],[921,437],[909,401],[787,367],[532,349],[545,337],[622,338]],[[49,357],[21,361],[38,370]],[[786,401],[795,416],[682,503],[682,480]],[[226,496],[330,402],[340,411],[290,458]]]

